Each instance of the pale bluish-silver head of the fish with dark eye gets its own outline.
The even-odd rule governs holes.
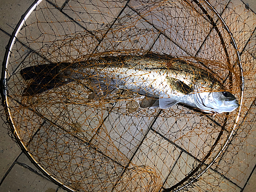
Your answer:
[[[197,108],[205,112],[232,112],[239,106],[230,92],[201,92],[194,95]]]

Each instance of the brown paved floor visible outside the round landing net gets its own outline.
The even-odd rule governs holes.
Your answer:
[[[65,2],[65,1],[63,1]],[[256,13],[256,2],[255,0],[231,0],[231,2],[238,6],[249,7],[251,13]],[[3,62],[4,54],[6,51],[6,46],[8,44],[11,33],[13,32],[18,20],[22,14],[28,9],[28,7],[33,3],[33,0],[2,0],[0,1],[0,63]],[[250,28],[254,29],[256,21],[255,17],[249,17],[248,23],[250,23]],[[234,31],[233,31],[234,33]],[[249,37],[254,35],[255,44],[255,34],[249,34],[243,39],[241,44],[247,42]],[[254,63],[256,65],[256,63]],[[3,108],[1,107],[3,112]],[[255,121],[254,114],[256,106],[252,105],[251,115],[247,118]],[[254,110],[254,111],[253,111]],[[250,122],[254,124],[254,122]],[[50,181],[45,177],[40,170],[38,170],[26,157],[26,155],[20,150],[17,144],[8,135],[7,126],[4,121],[1,120],[0,123],[0,191],[44,191],[44,192],[54,192],[54,191],[65,191],[61,187],[57,186],[55,183]],[[233,164],[226,165],[230,166],[229,175],[225,177],[224,182],[228,185],[233,185],[233,190],[229,189],[227,191],[244,191],[252,192],[256,191],[256,142],[255,142],[255,124],[251,127],[251,134],[246,137],[243,142],[246,146],[242,146],[241,153],[236,156],[236,160]],[[246,159],[247,158],[247,159]],[[241,164],[241,165],[240,165]],[[241,168],[241,169],[240,169]],[[220,171],[221,172],[221,171]],[[237,173],[242,174],[237,174]],[[243,175],[243,176],[241,176]],[[236,182],[236,177],[240,177]],[[215,179],[218,179],[216,176]],[[234,185],[236,183],[236,185]],[[225,186],[220,185],[220,189]]]

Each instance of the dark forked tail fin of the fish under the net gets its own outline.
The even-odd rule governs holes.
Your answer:
[[[65,63],[61,63],[65,64]],[[25,80],[31,80],[23,92],[23,96],[33,96],[56,87],[63,86],[67,82],[63,80],[61,70],[63,65],[59,63],[31,66],[20,70],[20,75]]]

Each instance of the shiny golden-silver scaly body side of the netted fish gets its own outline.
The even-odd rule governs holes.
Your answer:
[[[115,85],[119,89],[129,89],[134,91],[138,89],[139,94],[147,96],[157,96],[153,93],[153,90],[142,91],[145,87],[151,86],[156,91],[166,94],[183,94],[184,91],[179,87],[170,84],[167,78],[174,78],[183,82],[186,86],[191,87],[194,83],[205,80],[205,84],[201,84],[201,87],[220,89],[221,84],[216,79],[211,77],[208,73],[202,69],[195,68],[188,63],[181,60],[175,60],[170,67],[167,68],[167,63],[170,60],[148,58],[146,56],[126,56],[126,57],[104,57],[100,59],[88,60],[87,62],[75,63],[76,67],[79,66],[79,70],[70,77],[70,81],[73,79],[89,78],[97,75],[97,78],[102,76],[112,79],[112,86]],[[188,69],[190,68],[190,70]],[[71,70],[74,67],[71,67]],[[198,73],[198,71],[200,73]],[[200,74],[197,76],[195,74]],[[138,77],[137,77],[138,76]],[[114,83],[116,82],[116,84]],[[136,85],[129,84],[130,82],[136,82]],[[140,84],[140,82],[143,82]],[[209,86],[212,82],[215,85]],[[197,84],[200,84],[198,82]],[[167,84],[172,87],[171,91],[166,90]]]

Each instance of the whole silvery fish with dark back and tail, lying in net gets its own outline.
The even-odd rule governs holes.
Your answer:
[[[166,54],[102,56],[78,62],[42,64],[24,68],[20,75],[29,82],[23,96],[86,80],[93,91],[91,99],[126,90],[152,98],[149,109],[182,104],[206,113],[224,113],[239,106],[237,98],[225,89],[215,74],[192,61]]]

